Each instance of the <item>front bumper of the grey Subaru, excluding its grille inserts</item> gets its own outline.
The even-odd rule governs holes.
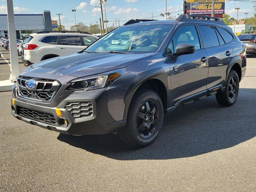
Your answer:
[[[13,90],[13,93],[16,92]],[[57,107],[54,108],[41,106],[36,102],[28,100],[20,100],[15,95],[14,98],[15,104],[12,104],[13,108],[15,109],[15,112],[12,112],[12,115],[14,117],[24,122],[28,122],[30,124],[37,125],[42,128],[46,128],[56,132],[71,135],[109,134],[118,132],[126,126],[125,120],[115,121],[109,114],[106,89],[94,90],[91,92],[87,92],[86,94],[83,91],[74,92],[70,94],[66,99],[64,99],[60,104],[58,104]],[[92,102],[92,116],[74,118],[74,116],[65,109],[65,106],[70,102]],[[44,122],[42,120],[30,118],[29,116],[17,114],[19,107],[52,114],[57,123],[52,124],[50,122]],[[56,108],[60,108],[62,118],[66,118],[68,120],[68,126],[66,128],[60,126],[60,124],[58,123],[59,117],[56,114]]]

